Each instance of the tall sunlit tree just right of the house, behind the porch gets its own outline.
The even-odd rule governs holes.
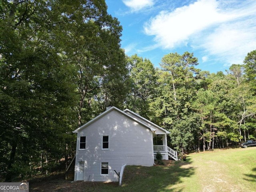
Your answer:
[[[163,71],[158,80],[158,98],[151,103],[151,110],[160,118],[159,124],[170,131],[172,143],[182,142],[182,146],[177,146],[181,152],[190,148],[189,143],[193,140],[195,124],[191,100],[196,93],[195,77],[200,71],[195,68],[196,65],[198,59],[193,53],[165,55],[160,64]],[[185,125],[189,127],[183,127]]]

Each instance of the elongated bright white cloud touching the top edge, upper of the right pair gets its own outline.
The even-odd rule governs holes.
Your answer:
[[[200,0],[189,6],[176,8],[174,12],[160,12],[144,29],[146,34],[154,35],[162,47],[173,48],[185,44],[192,34],[232,17],[217,12],[217,9],[216,0]]]

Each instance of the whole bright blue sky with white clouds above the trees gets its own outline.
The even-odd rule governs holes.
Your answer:
[[[170,52],[193,52],[197,68],[225,71],[256,50],[256,0],[106,0],[123,27],[121,47],[160,67]]]

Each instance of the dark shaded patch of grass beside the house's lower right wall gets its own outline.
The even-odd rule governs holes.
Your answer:
[[[186,161],[171,161],[166,166],[126,166],[120,191],[179,192],[182,178],[190,177],[195,170],[189,158]],[[174,188],[174,185],[181,184]]]

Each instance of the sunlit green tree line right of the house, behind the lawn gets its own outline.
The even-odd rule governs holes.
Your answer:
[[[246,58],[251,66],[253,53]],[[197,64],[188,52],[162,58],[158,96],[149,106],[150,120],[170,131],[168,143],[179,152],[209,150],[236,145],[248,139],[246,132],[255,134],[255,96],[253,81],[245,81],[246,66],[232,65],[225,75],[200,72]]]

